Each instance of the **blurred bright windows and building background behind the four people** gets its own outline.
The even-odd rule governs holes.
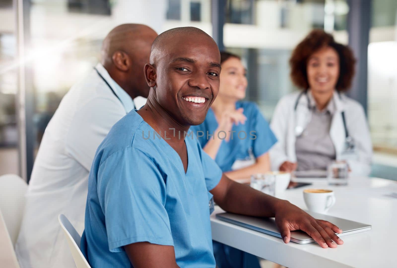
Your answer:
[[[158,33],[198,27],[241,55],[247,99],[268,120],[295,90],[288,60],[314,28],[355,50],[349,93],[366,109],[374,176],[397,176],[395,0],[0,0],[0,175],[29,179],[48,121],[67,90],[91,71],[102,39],[121,23]]]

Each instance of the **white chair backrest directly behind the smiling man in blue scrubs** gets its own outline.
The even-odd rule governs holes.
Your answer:
[[[73,260],[75,261],[77,268],[91,268],[88,264],[87,260],[85,259],[83,253],[80,250],[80,240],[81,236],[70,223],[70,221],[66,218],[65,215],[60,214],[58,216],[59,223],[64,230],[67,244],[69,245],[70,251],[73,256]]]

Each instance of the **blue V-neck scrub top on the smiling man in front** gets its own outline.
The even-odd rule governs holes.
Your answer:
[[[208,191],[222,171],[197,139],[187,136],[185,173],[177,152],[153,135],[132,110],[98,147],[81,250],[92,267],[130,267],[123,246],[148,241],[174,246],[180,267],[215,267]]]

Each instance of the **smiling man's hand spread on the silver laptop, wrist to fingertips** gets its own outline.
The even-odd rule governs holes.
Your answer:
[[[343,244],[342,239],[335,234],[342,232],[336,225],[326,220],[316,220],[288,201],[281,201],[275,216],[284,243],[288,243],[291,239],[291,231],[302,230],[323,248]]]

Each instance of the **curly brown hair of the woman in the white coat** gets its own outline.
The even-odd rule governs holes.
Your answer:
[[[335,49],[339,55],[339,78],[335,86],[336,90],[348,90],[355,74],[356,59],[353,51],[348,46],[335,42],[333,36],[324,30],[312,30],[293,50],[289,59],[292,82],[302,89],[309,88],[307,61],[315,51],[324,47]]]

